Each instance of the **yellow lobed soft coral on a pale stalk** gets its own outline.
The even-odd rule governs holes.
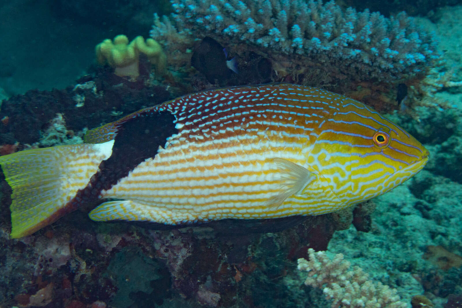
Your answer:
[[[96,58],[100,64],[108,63],[115,68],[117,76],[136,78],[140,75],[138,70],[140,53],[146,54],[149,62],[156,66],[157,72],[163,72],[166,65],[166,56],[159,43],[152,38],[145,42],[143,36],[137,36],[128,43],[128,37],[118,35],[114,42],[105,39],[96,45]]]

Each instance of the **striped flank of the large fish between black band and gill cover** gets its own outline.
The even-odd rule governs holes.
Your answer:
[[[119,198],[196,211],[201,221],[283,217],[304,211],[297,206],[267,209],[281,186],[273,160],[285,157],[306,165],[303,153],[310,139],[316,138],[316,133],[310,135],[315,129],[306,124],[322,121],[323,115],[318,115],[315,101],[295,104],[307,103],[308,97],[276,90],[262,86],[205,91],[161,106],[176,115],[180,132],[155,159],[140,165],[108,194],[117,191],[123,194]],[[152,186],[158,189],[150,191]],[[317,199],[327,204],[332,196],[323,196],[325,191],[319,187]]]

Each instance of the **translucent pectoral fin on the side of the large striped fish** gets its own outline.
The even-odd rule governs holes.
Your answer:
[[[317,179],[315,173],[287,159],[274,158],[274,163],[282,176],[280,193],[268,199],[268,205],[272,207],[278,208],[288,197],[301,193],[307,185]]]

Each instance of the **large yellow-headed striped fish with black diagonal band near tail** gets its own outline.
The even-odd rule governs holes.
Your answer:
[[[163,225],[320,215],[388,192],[429,157],[371,107],[286,83],[187,94],[84,142],[0,157],[12,238],[86,207],[94,221]]]

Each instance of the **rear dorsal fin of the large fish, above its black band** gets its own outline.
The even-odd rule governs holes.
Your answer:
[[[170,102],[170,101],[169,101]],[[157,106],[147,107],[144,109],[140,109],[120,118],[117,121],[110,122],[108,124],[104,124],[103,126],[93,128],[85,133],[84,142],[85,143],[103,143],[116,138],[117,133],[119,132],[120,128],[123,124],[127,123],[128,121],[134,120],[137,117],[152,114],[155,111],[161,111],[163,108],[159,108],[160,106],[164,106],[166,103],[162,103]]]

